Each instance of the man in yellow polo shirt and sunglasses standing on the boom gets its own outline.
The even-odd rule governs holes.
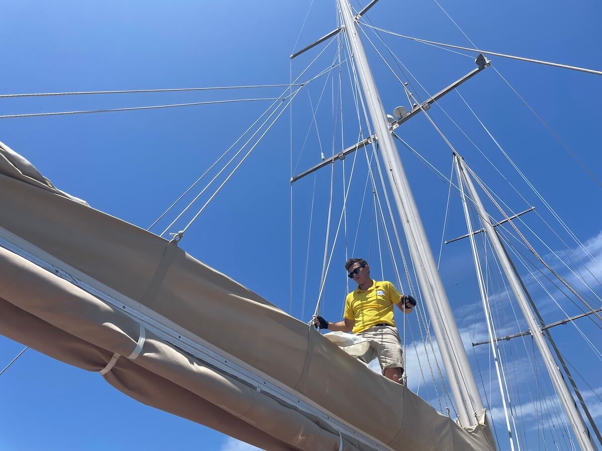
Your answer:
[[[358,287],[345,299],[343,321],[328,322],[317,316],[315,325],[332,331],[353,331],[370,340],[370,354],[378,357],[383,375],[401,383],[402,346],[393,318],[393,305],[407,314],[412,312],[416,301],[412,296],[400,295],[391,282],[373,280],[370,277],[370,266],[364,259],[347,260],[345,269]]]

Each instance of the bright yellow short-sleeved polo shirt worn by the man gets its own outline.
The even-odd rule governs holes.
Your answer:
[[[372,286],[365,291],[353,290],[345,298],[344,318],[355,319],[353,333],[364,331],[375,324],[389,324],[395,327],[393,304],[399,304],[402,295],[391,282],[372,281]]]

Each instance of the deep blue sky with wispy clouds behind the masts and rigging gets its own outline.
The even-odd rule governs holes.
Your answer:
[[[334,1],[315,2],[303,27],[311,1],[279,2],[277,7],[275,2],[268,1],[204,3],[4,2],[4,20],[0,29],[4,65],[0,91],[10,94],[288,84],[291,73],[288,56],[295,48],[297,37],[296,49],[299,49],[336,26]],[[440,4],[480,48],[598,70],[602,68],[597,32],[602,8],[597,2],[577,0],[570,7],[560,1],[513,0],[498,4],[440,1]],[[368,17],[374,25],[402,34],[470,46],[432,0],[381,0]],[[374,40],[370,29],[364,30]],[[462,55],[391,36],[383,36],[383,40],[430,93],[475,67],[470,58]],[[336,42],[330,45],[302,77],[303,80],[332,63],[336,45]],[[321,44],[294,61],[293,78],[324,46]],[[366,46],[385,109],[392,112],[397,105],[407,106],[399,82],[387,72],[378,55],[369,48],[370,44],[366,43]],[[379,49],[385,51],[382,46]],[[601,180],[600,76],[501,58],[490,59],[495,69]],[[403,77],[402,71],[395,64],[394,67]],[[338,117],[333,120],[333,110],[337,109],[333,105],[338,105],[338,72],[333,74],[316,79],[300,91],[293,103],[294,173],[320,161],[320,146],[326,155],[330,155],[357,140],[359,126],[350,95],[347,66],[341,66],[341,91],[345,90],[341,107],[345,132],[343,141],[340,138],[340,120]],[[420,90],[418,82],[414,79],[409,81],[412,91],[424,100],[427,95]],[[269,88],[244,92],[0,99],[0,114],[278,97],[281,92],[282,88]],[[309,99],[315,109],[322,92],[323,99],[314,121]],[[598,256],[598,262],[601,262],[600,186],[550,135],[494,69],[477,75],[459,92],[588,251]],[[440,104],[495,167],[524,193],[527,201],[521,200],[452,121],[433,106],[430,110],[432,117],[492,191],[515,211],[535,205],[569,248],[585,259],[584,251],[570,241],[557,222],[553,222],[550,213],[501,155],[462,99],[452,93]],[[63,117],[7,118],[0,119],[0,141],[28,158],[64,191],[84,198],[96,209],[146,228],[231,146],[267,106],[266,102],[249,102]],[[365,125],[362,128],[365,132]],[[182,241],[182,247],[193,256],[231,275],[286,311],[290,311],[291,305],[290,129],[287,112],[194,222]],[[425,118],[408,121],[398,129],[398,133],[448,176],[450,150]],[[433,252],[438,256],[447,185],[402,146],[400,153]],[[346,159],[344,174],[347,182],[352,161],[353,158]],[[384,239],[381,239],[383,265],[380,267],[376,225],[371,225],[370,218],[373,208],[371,189],[368,189],[368,201],[360,216],[367,178],[365,156],[360,153],[357,165],[346,211],[347,236],[341,231],[335,244],[321,301],[321,311],[330,321],[340,316],[348,289],[342,268],[346,256],[344,245],[347,243],[349,250],[353,247],[356,230],[355,254],[372,262],[376,272],[373,275],[377,278],[380,274],[389,280],[395,278]],[[337,165],[329,252],[343,204],[342,175],[342,167]],[[313,176],[306,177],[293,189],[292,313],[302,321],[311,317],[320,286],[330,193],[329,168],[324,168],[315,177],[317,196],[309,232],[313,180]],[[203,182],[206,183],[205,179]],[[486,206],[493,216],[500,216],[501,213],[494,213],[491,203]],[[190,215],[186,217],[190,219]],[[169,222],[164,225],[167,224]],[[525,224],[550,246],[548,249],[538,242],[535,233],[525,232],[539,253],[563,277],[571,283],[578,283],[576,276],[554,257],[552,251],[562,253],[565,261],[574,260],[573,253],[566,251],[562,242],[533,213],[527,215]],[[526,230],[524,227],[521,225],[521,230]],[[162,230],[154,229],[157,233]],[[445,238],[464,233],[466,225],[461,204],[452,195]],[[601,271],[591,263],[589,270],[591,272],[582,269],[582,273],[595,293],[600,295],[600,286],[595,285],[590,274],[600,279]],[[520,271],[526,275],[527,285],[532,288],[533,298],[545,321],[564,318],[560,308],[550,301],[526,269],[520,266]],[[495,379],[493,387],[489,387],[489,375],[494,370],[488,349],[486,346],[475,348],[476,354],[470,349],[471,340],[485,338],[486,327],[467,241],[445,246],[441,272],[477,381],[480,370],[480,376],[486,381],[484,394],[497,406],[493,410],[494,419],[501,420]],[[524,321],[519,321],[518,325],[514,322],[514,304],[502,301],[504,290],[500,280],[492,277],[490,282],[489,297],[496,306],[498,334],[524,330]],[[408,289],[407,284],[402,285],[402,289]],[[557,295],[557,292],[553,293]],[[588,296],[595,299],[592,293]],[[569,315],[579,313],[576,306],[562,296],[557,296],[557,299]],[[600,302],[595,305],[599,307]],[[423,360],[421,352],[424,352],[424,346],[418,333],[417,315],[406,320],[409,386],[418,391],[418,361]],[[402,318],[397,318],[397,321],[399,323]],[[587,319],[580,321],[586,336],[591,337],[594,344],[599,344],[600,330]],[[602,364],[579,332],[565,325],[554,329],[554,338],[559,341],[569,361],[598,390],[597,396],[602,396],[598,382]],[[517,340],[515,344],[504,342],[500,349],[508,367],[509,384],[517,394],[513,404],[524,414],[520,429],[524,438],[521,440],[530,446],[529,449],[544,449],[540,438],[541,442],[551,442],[554,436],[548,432],[542,436],[535,431],[532,420],[536,415],[529,416],[529,412],[536,412],[537,406],[545,404],[532,402],[532,399],[547,399],[550,387],[544,378],[541,378],[540,387],[536,387],[530,373],[532,369],[541,370],[541,366],[532,368],[529,346],[532,346],[530,340]],[[0,337],[0,367],[20,349],[22,345],[19,343]],[[435,364],[434,361],[432,363]],[[431,378],[427,374],[425,378],[426,391],[424,382],[420,382],[419,393],[437,406]],[[602,403],[583,382],[579,384],[586,399],[591,400],[592,414],[600,424]],[[132,446],[149,450],[193,446],[211,451],[250,449],[203,426],[140,405],[105,384],[100,376],[66,366],[31,350],[1,376],[0,399],[3,407],[0,413],[0,447],[10,451],[119,450]],[[550,410],[554,416],[555,410]],[[501,428],[503,423],[496,425]],[[497,429],[498,433],[501,430]],[[562,437],[559,441],[564,443]],[[552,445],[548,443],[548,446]],[[503,441],[500,441],[500,447],[509,449],[507,442]]]

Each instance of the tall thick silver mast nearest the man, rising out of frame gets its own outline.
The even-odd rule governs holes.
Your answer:
[[[424,302],[432,318],[433,330],[452,388],[458,417],[462,426],[473,426],[478,423],[479,417],[483,413],[483,401],[474,381],[473,372],[468,363],[456,321],[453,318],[452,308],[426,238],[397,147],[391,137],[385,109],[368,66],[351,7],[346,0],[337,1],[343,17],[344,31],[352,46],[353,61],[358,69],[364,96],[367,100],[374,134],[387,168],[386,173],[389,183],[391,183],[391,191],[393,191],[397,210],[408,239],[408,247],[416,268],[418,283],[420,283]]]

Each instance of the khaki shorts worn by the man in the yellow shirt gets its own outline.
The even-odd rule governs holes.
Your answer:
[[[377,357],[383,372],[386,368],[403,368],[402,345],[396,327],[374,326],[357,335],[370,340],[370,349],[359,357],[365,363]]]

